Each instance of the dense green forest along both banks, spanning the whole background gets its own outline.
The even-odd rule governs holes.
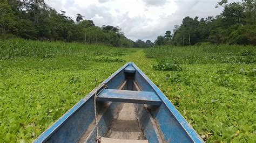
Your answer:
[[[127,39],[118,26],[96,26],[77,13],[76,19],[58,13],[43,0],[0,0],[0,35],[3,38],[19,37],[32,40],[60,40],[103,44],[115,47],[151,47],[154,45],[212,44],[256,45],[255,1],[227,3],[222,0],[215,8],[223,7],[218,16],[207,18],[185,17],[175,25],[173,34],[166,31],[154,42]]]

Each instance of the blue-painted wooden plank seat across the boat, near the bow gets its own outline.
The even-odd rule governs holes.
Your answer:
[[[97,101],[161,105],[161,99],[154,92],[149,91],[104,89],[98,95]]]

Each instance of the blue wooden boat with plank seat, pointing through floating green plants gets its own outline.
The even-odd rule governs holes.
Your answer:
[[[96,142],[96,139],[112,143],[204,142],[163,92],[132,62],[92,90],[34,142]]]

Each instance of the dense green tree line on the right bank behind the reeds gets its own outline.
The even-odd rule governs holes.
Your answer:
[[[227,3],[222,0],[215,8],[223,7],[218,16],[207,18],[185,17],[181,25],[175,25],[173,34],[166,31],[154,41],[156,45],[212,44],[256,45],[255,1]]]

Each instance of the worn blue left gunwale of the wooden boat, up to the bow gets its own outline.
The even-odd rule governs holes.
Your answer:
[[[111,76],[107,77],[106,80],[100,83],[99,85],[110,82],[114,76],[119,74],[120,71],[122,71],[124,68],[126,68],[129,65],[130,65],[130,62],[126,63],[124,66],[119,68],[116,72],[114,72]],[[76,103],[74,106],[72,106],[71,109],[66,111],[63,116],[61,116],[58,120],[56,120],[55,123],[53,123],[50,127],[48,127],[43,133],[41,133],[41,135],[39,135],[36,138],[36,140],[33,142],[44,142],[47,139],[49,139],[51,135],[53,135],[58,130],[59,127],[61,127],[66,121],[68,121],[69,118],[71,118],[80,108],[82,108],[82,106],[85,103],[87,103],[87,101],[89,101],[90,98],[93,97],[99,85],[95,89],[93,89],[91,92],[89,92],[89,94],[87,94],[83,99],[80,99],[80,101]]]

